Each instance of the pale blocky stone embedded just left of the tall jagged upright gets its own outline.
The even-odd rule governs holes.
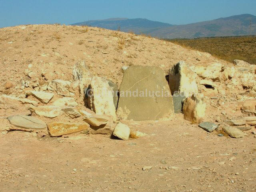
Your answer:
[[[73,94],[70,93],[71,82],[70,81],[64,81],[61,79],[55,79],[52,80],[52,83],[49,85],[53,90],[57,92],[57,94],[62,96],[72,96]]]

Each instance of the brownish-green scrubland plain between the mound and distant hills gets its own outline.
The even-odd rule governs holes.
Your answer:
[[[171,39],[167,40],[202,52],[208,52],[217,58],[233,62],[234,59],[256,64],[256,36]]]

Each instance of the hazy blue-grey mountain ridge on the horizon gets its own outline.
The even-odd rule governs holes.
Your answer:
[[[97,26],[111,30],[120,28],[124,32],[133,31],[136,34],[144,33],[158,38],[170,39],[256,34],[256,16],[251,14],[235,15],[186,25],[172,25],[142,18],[89,20],[72,25]]]

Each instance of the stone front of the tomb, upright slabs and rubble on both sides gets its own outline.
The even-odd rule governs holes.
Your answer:
[[[106,78],[93,76],[84,61],[74,65],[71,81],[42,72],[42,84],[27,69],[20,85],[4,83],[6,93],[16,86],[20,94],[0,95],[1,107],[12,109],[12,115],[8,110],[2,115],[8,118],[10,130],[47,129],[54,137],[76,132],[113,134],[128,140],[131,130],[120,120],[170,120],[183,113],[185,120],[198,123],[207,132],[218,130],[240,138],[256,125],[255,67],[241,60],[234,60],[234,65],[188,66],[180,61],[167,76],[155,66],[124,66],[119,88]],[[236,110],[247,116],[225,120],[216,117],[218,124],[204,121],[208,107],[223,108],[227,91],[236,94],[240,102]]]

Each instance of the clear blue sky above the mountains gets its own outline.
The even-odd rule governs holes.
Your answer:
[[[188,24],[244,13],[256,15],[256,0],[0,0],[0,28],[112,17]]]

